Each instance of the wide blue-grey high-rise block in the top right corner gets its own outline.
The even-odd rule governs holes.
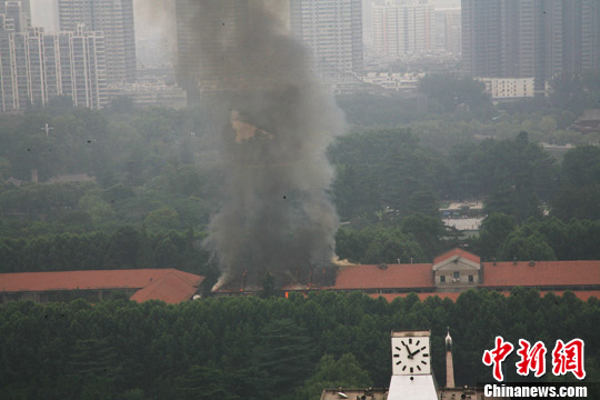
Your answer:
[[[598,0],[462,0],[462,61],[473,77],[534,78],[600,67]]]

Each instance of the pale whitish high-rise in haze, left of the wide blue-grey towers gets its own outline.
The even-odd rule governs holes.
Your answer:
[[[436,14],[428,3],[388,1],[373,4],[373,48],[386,57],[427,52],[434,48]]]

